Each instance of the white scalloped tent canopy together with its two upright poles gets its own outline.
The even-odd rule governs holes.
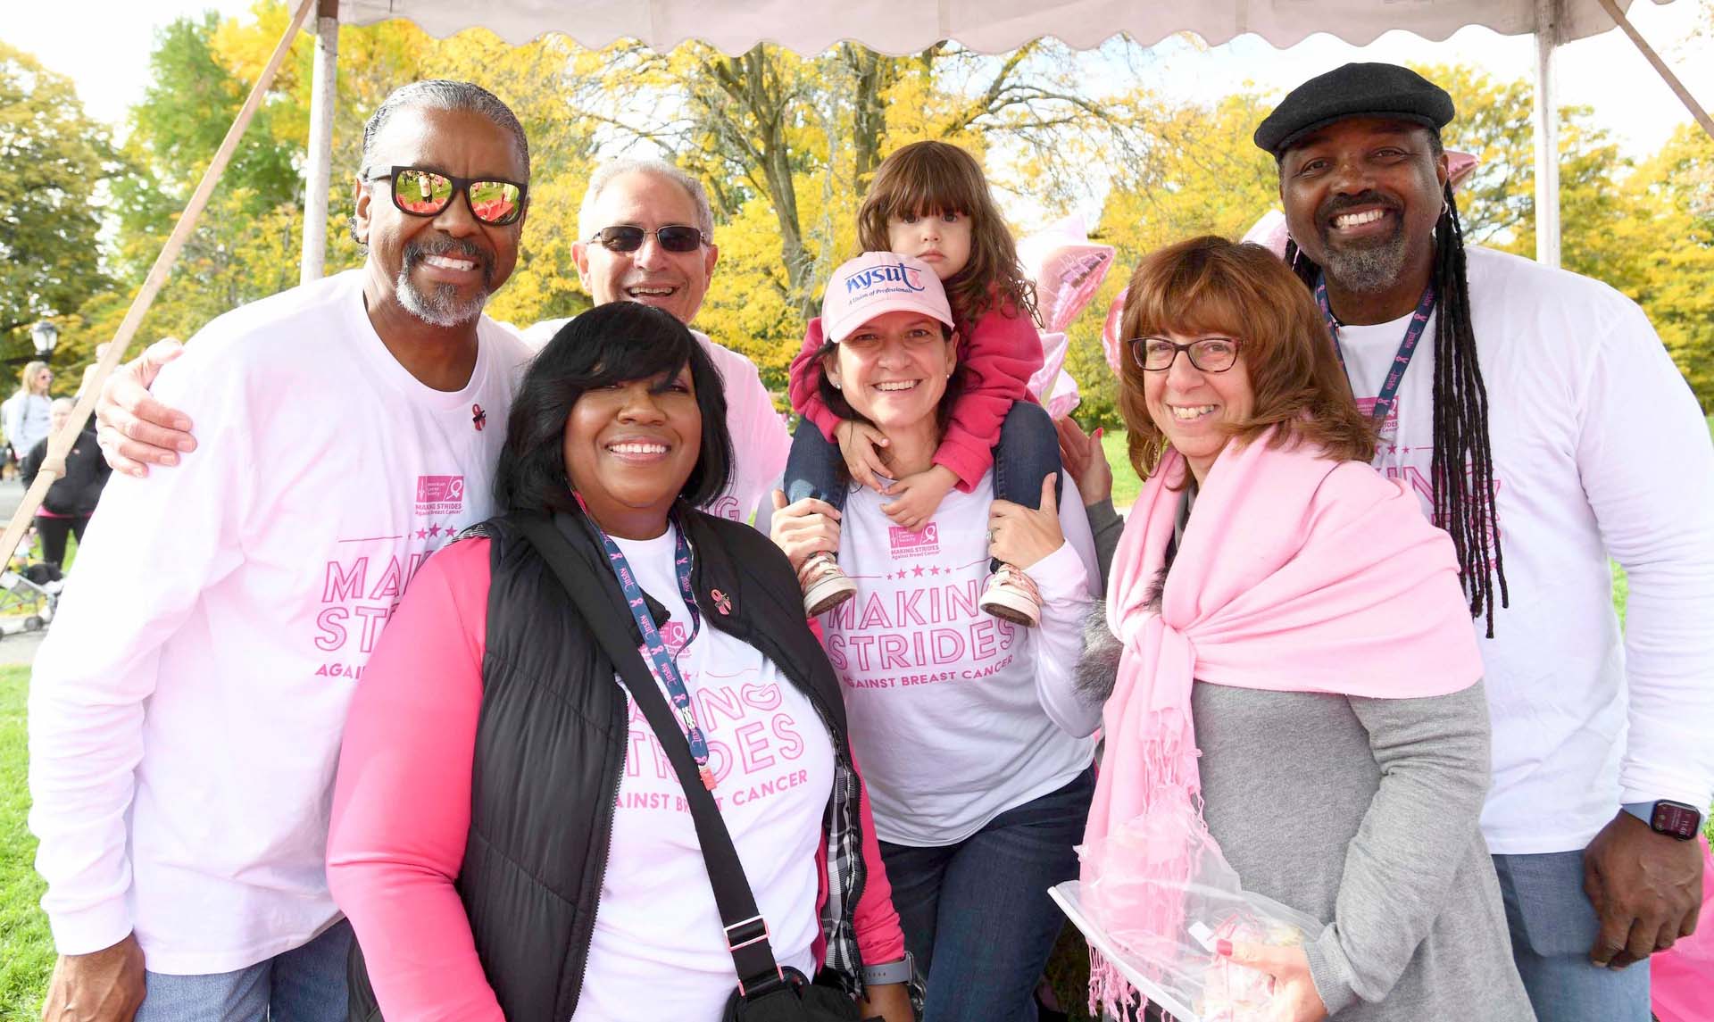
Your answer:
[[[339,24],[375,24],[393,17],[417,22],[435,36],[485,27],[521,45],[543,33],[564,33],[584,46],[639,39],[668,51],[703,39],[725,53],[776,43],[821,53],[852,39],[902,55],[956,39],[982,53],[1015,50],[1040,36],[1076,48],[1099,46],[1118,33],[1155,43],[1172,33],[1196,33],[1208,43],[1256,34],[1291,46],[1315,33],[1369,43],[1402,29],[1445,39],[1471,24],[1503,34],[1534,33],[1536,53],[1536,257],[1560,264],[1560,168],[1553,87],[1555,50],[1570,39],[1604,33],[1633,0],[317,0],[317,60],[310,106],[310,153],[305,195],[302,280],[321,278],[326,252],[333,79]],[[1671,0],[1654,0],[1669,3]],[[1628,26],[1627,26],[1628,29]],[[1640,38],[1639,38],[1640,45]],[[1652,55],[1651,55],[1652,60]],[[1671,81],[1671,74],[1659,65]],[[1681,93],[1681,96],[1687,96]],[[1688,103],[1688,96],[1687,96]],[[1711,127],[1714,134],[1714,127]]]

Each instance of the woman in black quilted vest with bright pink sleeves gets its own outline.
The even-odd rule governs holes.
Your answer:
[[[602,305],[531,364],[507,429],[509,511],[423,564],[351,703],[327,873],[367,965],[353,1017],[716,1022],[754,929],[770,976],[824,967],[907,1022],[797,576],[696,511],[732,458],[708,355],[663,312]],[[723,924],[698,785],[764,923]]]

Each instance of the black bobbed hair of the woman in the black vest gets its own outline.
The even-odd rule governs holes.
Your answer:
[[[576,316],[530,362],[512,413],[506,448],[494,473],[497,511],[578,511],[566,475],[566,420],[586,393],[634,379],[677,376],[691,367],[703,412],[703,448],[679,497],[701,508],[732,477],[732,436],[720,370],[703,345],[670,312],[636,302],[608,302]]]

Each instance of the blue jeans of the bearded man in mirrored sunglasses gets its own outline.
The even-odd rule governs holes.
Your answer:
[[[310,943],[235,972],[149,972],[135,1022],[345,1022],[345,962],[351,924],[341,919]]]

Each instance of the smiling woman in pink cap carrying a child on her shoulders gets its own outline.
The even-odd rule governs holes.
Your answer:
[[[884,436],[884,475],[926,470],[965,384],[934,271],[867,252],[828,283],[821,400]],[[996,501],[992,470],[946,494],[917,530],[888,497],[847,487],[845,511],[775,494],[773,538],[800,566],[835,554],[857,593],[821,616],[850,741],[874,804],[905,947],[927,976],[926,1022],[1035,1019],[1034,988],[1064,923],[1047,888],[1076,875],[1071,845],[1094,791],[1099,708],[1071,682],[1095,550],[1071,480],[1040,509]],[[1042,595],[1039,628],[980,609],[989,557]]]

